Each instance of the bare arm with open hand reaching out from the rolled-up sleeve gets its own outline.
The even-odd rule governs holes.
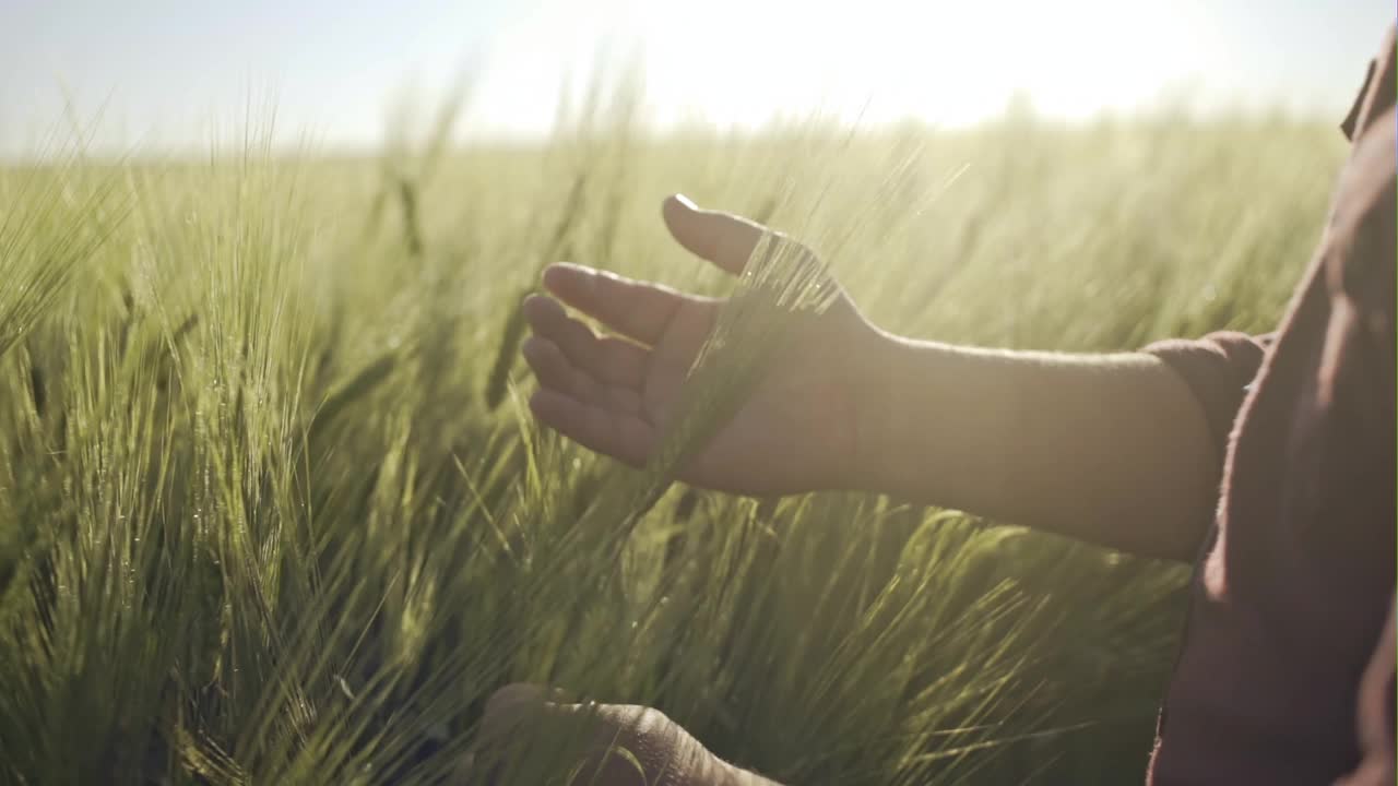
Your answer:
[[[741,271],[762,228],[671,199],[681,245]],[[577,266],[526,303],[541,421],[643,463],[721,302]],[[1158,557],[1192,557],[1219,483],[1205,413],[1149,354],[1012,352],[913,341],[847,298],[773,361],[686,483],[742,494],[886,492]]]

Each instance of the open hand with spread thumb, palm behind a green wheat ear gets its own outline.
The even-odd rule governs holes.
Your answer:
[[[684,248],[741,273],[763,227],[670,197],[665,225]],[[534,334],[524,358],[540,380],[535,417],[580,445],[633,466],[644,463],[672,414],[723,301],[580,267],[554,264],[524,315]],[[559,305],[596,317],[598,337]],[[856,406],[867,358],[879,341],[843,292],[766,369],[761,385],[705,450],[685,483],[752,495],[847,485],[856,456]]]

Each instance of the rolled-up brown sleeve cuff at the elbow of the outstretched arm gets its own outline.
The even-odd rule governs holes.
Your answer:
[[[1158,341],[1145,348],[1169,364],[1194,392],[1209,422],[1220,462],[1243,397],[1257,378],[1271,343],[1272,334],[1248,336],[1225,330],[1197,340]]]

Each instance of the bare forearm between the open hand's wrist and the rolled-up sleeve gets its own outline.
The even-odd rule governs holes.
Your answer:
[[[861,362],[854,485],[1142,554],[1194,555],[1220,469],[1199,406],[1155,357],[885,336]]]

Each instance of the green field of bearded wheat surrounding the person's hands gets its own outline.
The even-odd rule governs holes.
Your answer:
[[[519,303],[554,260],[731,291],[664,232],[684,192],[905,334],[1265,330],[1338,130],[653,138],[603,106],[463,148],[450,115],[358,158],[250,130],[0,169],[0,782],[468,783],[510,681],[654,705],[791,785],[1139,782],[1187,566],[621,467],[528,417]],[[696,397],[741,394],[751,344]]]

